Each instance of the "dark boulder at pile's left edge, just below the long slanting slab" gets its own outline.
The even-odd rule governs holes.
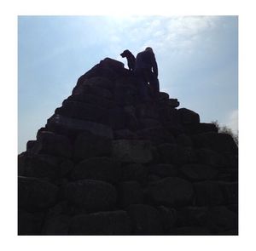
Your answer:
[[[43,131],[38,134],[37,142],[33,145],[31,152],[35,154],[71,157],[72,145],[70,140],[64,135]]]

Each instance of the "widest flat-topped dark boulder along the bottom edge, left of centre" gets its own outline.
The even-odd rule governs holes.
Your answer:
[[[129,235],[130,219],[125,211],[79,214],[71,220],[71,235]]]

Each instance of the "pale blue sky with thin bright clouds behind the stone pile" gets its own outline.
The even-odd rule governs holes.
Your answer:
[[[160,91],[238,130],[237,16],[19,16],[18,151],[61,106],[77,79],[106,57],[152,47]]]

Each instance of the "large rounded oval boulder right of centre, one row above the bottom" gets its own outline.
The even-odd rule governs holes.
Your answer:
[[[191,203],[193,196],[193,185],[176,177],[157,180],[148,187],[148,197],[158,205],[186,205]]]

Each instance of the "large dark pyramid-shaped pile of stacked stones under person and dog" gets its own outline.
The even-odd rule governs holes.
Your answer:
[[[237,235],[229,134],[106,58],[18,157],[19,235]],[[149,90],[149,88],[148,88]]]

